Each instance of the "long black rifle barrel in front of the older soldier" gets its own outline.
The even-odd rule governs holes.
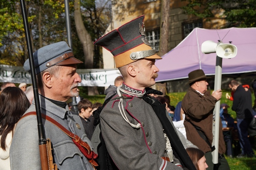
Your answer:
[[[26,5],[25,5],[24,0],[20,0],[20,7],[21,7],[21,11],[22,11],[24,30],[25,30],[26,41],[27,41],[29,66],[30,66],[30,70],[31,70],[31,78],[32,78],[32,85],[33,85],[33,92],[34,92],[34,100],[35,100],[35,111],[37,112],[39,145],[43,145],[43,144],[46,144],[46,140],[45,140],[45,134],[44,134],[44,126],[42,123],[34,58],[33,58],[33,52],[32,52],[30,32],[29,32],[29,27],[28,27],[28,17],[27,17],[27,13],[26,13]]]

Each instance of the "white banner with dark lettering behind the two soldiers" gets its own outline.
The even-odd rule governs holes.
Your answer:
[[[79,86],[106,87],[114,85],[115,78],[120,76],[118,69],[77,69],[82,82]],[[20,66],[0,65],[0,82],[32,84],[31,75]]]

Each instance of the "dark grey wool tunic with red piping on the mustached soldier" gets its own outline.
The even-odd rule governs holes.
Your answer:
[[[182,169],[175,165],[180,163],[175,157],[173,163],[160,158],[167,157],[166,141],[161,122],[151,105],[136,96],[123,99],[128,120],[141,124],[141,128],[136,129],[123,119],[118,103],[118,99],[111,100],[100,114],[102,136],[116,166],[126,170]]]

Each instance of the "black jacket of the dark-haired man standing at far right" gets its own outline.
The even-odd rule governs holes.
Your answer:
[[[237,119],[250,119],[253,116],[252,94],[251,91],[245,91],[242,85],[239,85],[234,92],[232,110],[236,111]]]

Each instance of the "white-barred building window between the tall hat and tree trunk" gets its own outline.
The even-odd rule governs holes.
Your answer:
[[[151,44],[152,49],[155,49],[156,52],[159,51],[159,39],[160,39],[160,30],[153,30],[146,32],[146,38]]]

